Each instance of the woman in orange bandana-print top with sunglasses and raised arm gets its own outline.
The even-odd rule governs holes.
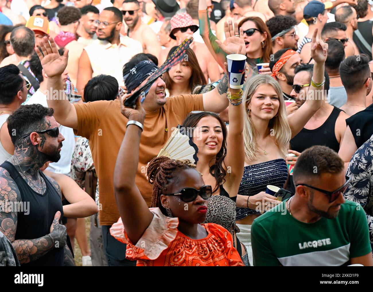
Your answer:
[[[121,111],[129,122],[114,172],[120,219],[110,233],[127,244],[126,258],[137,260],[137,266],[243,266],[228,230],[200,224],[211,186],[191,161],[157,157],[149,162],[153,208],[148,208],[135,184],[145,111],[140,98],[136,109],[122,105]]]

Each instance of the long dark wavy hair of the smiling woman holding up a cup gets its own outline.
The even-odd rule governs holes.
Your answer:
[[[223,131],[222,148],[220,148],[220,151],[216,154],[215,163],[213,165],[210,165],[211,161],[209,163],[210,174],[216,179],[216,185],[215,185],[215,188],[213,189],[213,192],[216,192],[217,189],[219,189],[219,186],[222,183],[225,183],[225,176],[227,174],[223,166],[224,158],[227,155],[227,134],[228,134],[225,123],[217,115],[212,115],[209,112],[201,112],[201,113],[190,114],[188,117],[186,117],[182,126],[184,127],[184,129],[188,129],[188,130],[194,129],[197,123],[200,121],[200,119],[206,116],[211,116],[211,117],[216,118],[219,121],[220,126],[222,127],[222,131]],[[192,136],[193,133],[189,131],[188,135]]]

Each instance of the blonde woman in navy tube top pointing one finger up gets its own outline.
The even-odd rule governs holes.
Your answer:
[[[322,99],[326,98],[323,85],[327,44],[317,40],[316,35],[317,29],[311,45],[311,56],[315,60],[313,77],[308,95],[303,97],[307,100],[295,113],[286,116],[282,90],[271,76],[254,76],[244,90],[245,167],[236,200],[236,223],[240,229],[237,237],[248,249],[250,259],[250,233],[254,219],[260,216],[260,211],[279,203],[276,197],[266,194],[267,185],[283,187],[288,177],[285,156],[289,141],[301,131],[321,107]]]

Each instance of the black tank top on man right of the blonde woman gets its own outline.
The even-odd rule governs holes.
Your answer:
[[[303,128],[294,138],[290,140],[291,149],[303,152],[305,149],[314,145],[322,145],[332,148],[338,153],[339,143],[335,137],[335,122],[342,111],[338,107],[334,109],[330,116],[319,128],[307,130]]]

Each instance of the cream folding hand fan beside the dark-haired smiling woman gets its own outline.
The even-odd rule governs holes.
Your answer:
[[[164,147],[159,152],[158,156],[166,156],[171,159],[189,159],[194,164],[197,164],[198,148],[192,141],[192,137],[182,134],[180,132],[180,125],[173,132],[171,137],[167,140]]]

